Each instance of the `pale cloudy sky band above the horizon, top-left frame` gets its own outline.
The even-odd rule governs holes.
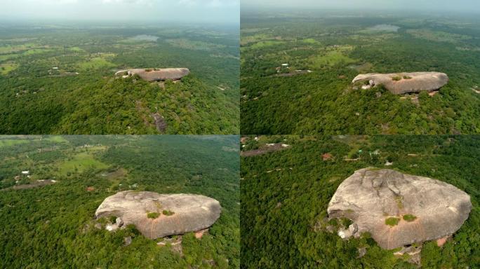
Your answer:
[[[240,0],[0,0],[6,20],[124,20],[238,25]]]

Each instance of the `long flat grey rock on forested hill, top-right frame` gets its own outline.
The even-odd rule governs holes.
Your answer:
[[[448,76],[439,72],[415,72],[395,74],[361,74],[356,76],[352,83],[361,83],[363,89],[383,85],[394,95],[426,90],[439,90],[448,83]]]

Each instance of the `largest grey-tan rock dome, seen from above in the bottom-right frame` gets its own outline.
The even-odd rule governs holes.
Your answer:
[[[471,209],[469,195],[443,181],[369,167],[338,186],[327,211],[353,221],[340,236],[368,232],[394,249],[452,235]]]

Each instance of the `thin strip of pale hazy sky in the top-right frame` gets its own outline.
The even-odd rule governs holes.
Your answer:
[[[479,0],[241,0],[241,8],[415,9],[480,13]]]

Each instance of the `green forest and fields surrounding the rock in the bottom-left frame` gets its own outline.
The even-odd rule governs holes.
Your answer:
[[[0,268],[239,268],[238,140],[0,137]],[[93,228],[100,203],[128,189],[206,195],[222,213],[201,239],[182,236],[182,254],[135,228]]]

